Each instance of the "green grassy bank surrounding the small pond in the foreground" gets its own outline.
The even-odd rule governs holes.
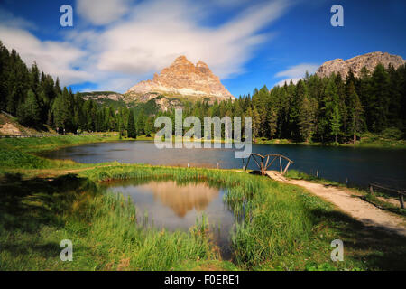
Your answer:
[[[0,141],[0,149],[14,155],[0,160],[2,270],[405,269],[405,238],[363,230],[296,186],[226,170],[45,160],[19,141],[15,147]],[[227,205],[245,216],[233,234],[234,263],[221,259],[206,225],[197,223],[189,233],[144,229],[131,202],[98,185],[132,178],[228,188]],[[345,260],[336,263],[330,243],[337,238],[345,244]],[[60,261],[62,239],[73,242],[72,262]]]

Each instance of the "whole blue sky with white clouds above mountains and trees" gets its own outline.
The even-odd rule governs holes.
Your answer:
[[[73,27],[60,26],[65,4]],[[335,4],[344,27],[330,24]],[[74,91],[125,92],[184,54],[237,97],[332,59],[406,58],[405,16],[402,0],[0,0],[0,40]]]

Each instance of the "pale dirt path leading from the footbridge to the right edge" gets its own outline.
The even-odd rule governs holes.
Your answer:
[[[268,171],[269,172],[269,171]],[[405,219],[388,211],[376,208],[373,204],[357,198],[354,191],[303,180],[288,180],[279,172],[267,173],[273,180],[291,183],[306,188],[313,194],[336,205],[351,217],[367,227],[378,227],[406,236]]]

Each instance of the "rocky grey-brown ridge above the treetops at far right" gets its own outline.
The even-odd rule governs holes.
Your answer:
[[[405,60],[398,55],[392,55],[383,52],[371,52],[364,55],[355,56],[349,60],[333,60],[323,63],[317,70],[319,77],[327,77],[333,72],[339,72],[342,77],[346,77],[348,71],[351,69],[354,72],[355,77],[360,76],[361,69],[366,67],[367,70],[372,71],[379,63],[383,64],[387,68],[390,64],[397,69],[404,63]]]

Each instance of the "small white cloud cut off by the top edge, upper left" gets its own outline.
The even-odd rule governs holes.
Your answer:
[[[77,0],[78,14],[95,25],[120,19],[129,9],[129,0]]]

